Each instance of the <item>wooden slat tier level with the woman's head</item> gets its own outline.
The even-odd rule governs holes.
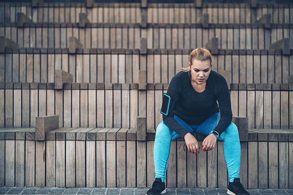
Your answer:
[[[147,82],[170,82],[181,68],[188,66],[190,52],[148,49]],[[292,58],[282,55],[281,50],[219,49],[218,52],[219,55],[212,56],[212,69],[220,73],[231,71],[229,83],[288,83],[288,77],[292,76]],[[78,83],[138,83],[138,71],[142,69],[139,61],[143,59],[138,49],[77,49],[76,54],[68,55],[68,49],[13,48],[0,56],[5,58],[5,63],[0,64],[5,70],[0,82],[54,82],[54,71],[63,69]],[[26,74],[19,76],[20,70]]]

